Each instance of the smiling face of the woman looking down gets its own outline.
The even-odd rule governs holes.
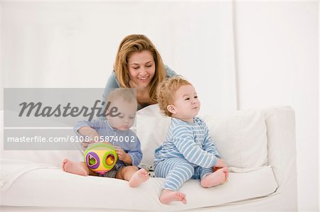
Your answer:
[[[128,60],[130,85],[137,89],[149,86],[156,72],[154,57],[149,50],[133,52]]]

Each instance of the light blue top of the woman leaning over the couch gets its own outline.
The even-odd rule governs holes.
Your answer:
[[[176,72],[170,69],[167,65],[165,65],[164,67],[166,68],[167,79],[176,76]],[[106,101],[110,91],[112,91],[113,89],[117,89],[119,87],[120,87],[119,80],[117,79],[113,71],[107,81],[107,84],[105,85],[105,91],[103,92],[103,95],[102,95],[102,101]],[[102,106],[102,111],[105,111],[105,107],[106,107],[106,104]],[[142,108],[141,104],[138,104],[138,110],[140,110],[141,108]],[[102,116],[101,118],[105,119],[105,116]]]

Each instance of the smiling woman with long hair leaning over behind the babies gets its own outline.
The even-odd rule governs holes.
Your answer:
[[[165,66],[151,40],[145,35],[127,35],[119,45],[114,70],[103,94],[114,88],[137,89],[138,110],[156,104],[156,87],[176,72]]]

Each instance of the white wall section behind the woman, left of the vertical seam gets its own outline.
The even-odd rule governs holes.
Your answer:
[[[122,38],[142,33],[195,84],[202,113],[234,111],[232,9],[231,2],[5,1],[4,87],[103,88]]]

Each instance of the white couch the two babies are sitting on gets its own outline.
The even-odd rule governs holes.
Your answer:
[[[288,106],[202,116],[230,175],[204,189],[189,180],[181,191],[188,203],[162,205],[164,179],[137,188],[119,179],[82,177],[60,169],[78,151],[4,151],[1,147],[1,211],[297,211],[294,111]],[[137,113],[143,164],[152,164],[169,118],[157,105]],[[3,145],[3,141],[1,142]]]

